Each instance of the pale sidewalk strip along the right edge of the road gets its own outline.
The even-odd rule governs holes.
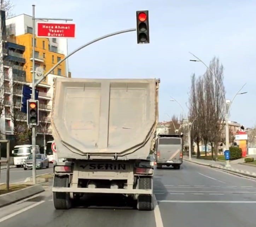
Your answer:
[[[223,161],[197,159],[194,157],[192,157],[191,160],[189,160],[187,156],[184,156],[183,159],[186,161],[189,161],[189,162],[199,164],[199,165],[210,166],[213,168],[219,168],[224,171],[238,173],[238,174],[242,174],[245,176],[256,178],[256,166],[253,167],[253,166],[241,165],[241,164],[238,164],[237,161],[235,161],[235,162],[229,161],[231,168],[227,168],[227,167],[225,167],[226,162],[223,162]]]

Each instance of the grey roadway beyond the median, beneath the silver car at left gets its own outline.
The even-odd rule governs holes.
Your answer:
[[[52,167],[53,165],[50,164],[48,169],[43,168],[42,170],[36,170],[36,175],[52,173]],[[0,176],[0,183],[6,183],[6,169],[1,170]],[[23,181],[27,177],[32,177],[32,170],[24,170],[23,168],[10,168],[10,183]]]

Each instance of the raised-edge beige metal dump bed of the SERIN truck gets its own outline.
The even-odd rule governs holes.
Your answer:
[[[56,78],[58,158],[146,159],[158,122],[158,79]]]

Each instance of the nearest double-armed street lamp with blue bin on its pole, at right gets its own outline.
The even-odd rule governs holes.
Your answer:
[[[189,52],[190,54],[192,54],[191,52]],[[220,86],[220,83],[219,81],[217,80],[217,77],[216,75],[214,74],[214,72],[201,60],[199,59],[196,55],[192,54],[197,60],[194,60],[194,59],[191,59],[190,61],[195,61],[195,62],[202,62],[203,65],[211,72],[211,74],[214,76],[215,78],[215,81],[217,82],[217,85],[219,86],[220,88],[220,92],[221,92],[221,96],[223,98],[223,102],[226,103],[226,108],[225,109],[225,114],[226,114],[226,151],[229,151],[229,127],[228,127],[228,115],[229,115],[229,110],[230,110],[230,106],[232,104],[232,102],[234,101],[234,98],[238,95],[238,94],[245,94],[247,92],[241,92],[239,93],[243,87],[245,86],[245,84],[239,89],[239,91],[235,94],[235,96],[233,97],[232,101],[230,101],[229,99],[225,99],[225,96],[223,94],[223,91],[222,91],[222,87]],[[226,160],[226,167],[227,168],[230,168],[230,164],[229,164],[229,160]]]

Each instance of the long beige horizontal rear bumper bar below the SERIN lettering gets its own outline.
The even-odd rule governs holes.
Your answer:
[[[52,187],[52,192],[143,194],[143,195],[153,194],[152,189],[106,189],[106,188],[65,188],[65,187]]]

